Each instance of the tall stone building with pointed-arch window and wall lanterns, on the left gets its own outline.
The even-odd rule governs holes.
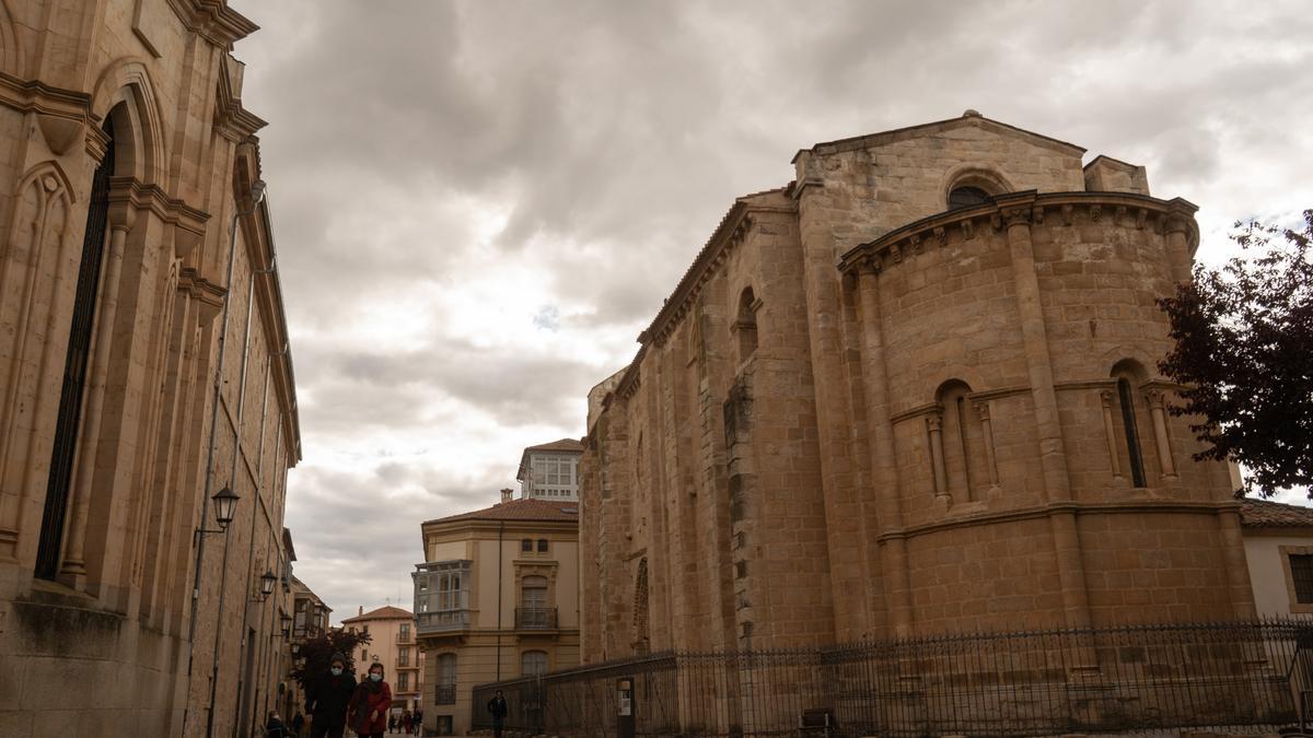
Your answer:
[[[301,441],[253,30],[223,0],[0,4],[3,735],[277,706]]]

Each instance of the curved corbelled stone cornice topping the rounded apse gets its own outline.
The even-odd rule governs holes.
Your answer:
[[[1124,192],[1054,192],[1035,190],[1002,194],[994,202],[961,207],[922,218],[878,239],[850,250],[839,259],[839,271],[853,272],[861,265],[876,269],[899,264],[909,253],[926,247],[947,246],[953,231],[961,238],[974,238],[977,228],[1001,231],[1016,225],[1070,226],[1077,217],[1086,222],[1107,222],[1134,228],[1153,228],[1157,234],[1183,231],[1191,251],[1199,244],[1197,206],[1182,200],[1158,200],[1146,194]]]

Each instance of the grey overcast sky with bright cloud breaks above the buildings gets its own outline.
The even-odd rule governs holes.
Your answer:
[[[420,523],[586,432],[734,198],[817,142],[979,110],[1232,222],[1313,207],[1305,3],[231,0],[335,609],[411,607]]]

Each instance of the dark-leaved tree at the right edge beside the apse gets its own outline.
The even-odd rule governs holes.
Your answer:
[[[1158,301],[1176,345],[1158,369],[1184,385],[1173,415],[1209,444],[1196,460],[1233,460],[1249,491],[1313,482],[1313,210],[1301,231],[1237,222],[1241,255]],[[1280,236],[1280,238],[1276,238]]]

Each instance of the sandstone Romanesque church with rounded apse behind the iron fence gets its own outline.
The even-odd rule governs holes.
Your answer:
[[[590,397],[583,657],[1254,615],[1155,362],[1196,207],[974,110],[738,198]]]

